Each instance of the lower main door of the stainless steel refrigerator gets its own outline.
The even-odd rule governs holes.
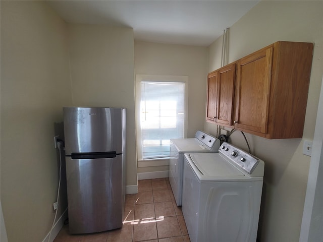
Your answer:
[[[70,233],[122,227],[122,155],[106,159],[66,157]]]

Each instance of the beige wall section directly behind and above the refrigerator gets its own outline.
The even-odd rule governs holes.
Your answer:
[[[127,108],[127,186],[137,186],[133,29],[69,24],[74,106]]]

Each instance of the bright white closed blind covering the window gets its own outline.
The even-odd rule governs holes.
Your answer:
[[[184,138],[182,82],[141,82],[142,159],[169,157],[170,139]]]

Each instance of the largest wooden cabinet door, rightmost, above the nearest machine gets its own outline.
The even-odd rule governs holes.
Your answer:
[[[267,132],[272,59],[271,46],[238,62],[235,128]]]

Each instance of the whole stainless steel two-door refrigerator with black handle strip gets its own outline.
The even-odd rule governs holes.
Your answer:
[[[63,107],[70,233],[122,227],[126,109]]]

